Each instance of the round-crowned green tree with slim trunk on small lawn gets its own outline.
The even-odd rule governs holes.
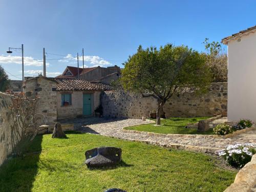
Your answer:
[[[186,46],[139,46],[137,53],[124,62],[120,83],[126,91],[151,94],[157,99],[159,125],[163,105],[174,94],[189,88],[197,93],[208,90],[210,75],[204,58]]]

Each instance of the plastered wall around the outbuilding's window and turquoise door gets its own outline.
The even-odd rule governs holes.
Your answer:
[[[61,93],[71,93],[72,104],[61,106]],[[101,91],[71,91],[71,92],[57,92],[57,116],[58,119],[75,118],[82,116],[83,108],[83,93],[92,93],[93,100],[91,101],[91,111],[94,115],[94,110],[100,104],[100,93]]]

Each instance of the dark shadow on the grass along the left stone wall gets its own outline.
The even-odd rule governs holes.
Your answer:
[[[0,167],[0,191],[31,191],[37,174],[42,135],[37,135],[26,155],[4,162]]]

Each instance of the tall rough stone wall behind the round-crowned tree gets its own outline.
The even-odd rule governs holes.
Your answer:
[[[104,92],[101,94],[103,116],[141,118],[156,110],[157,102],[153,97],[134,98],[129,94]],[[178,94],[164,105],[166,117],[196,117],[227,114],[227,83],[212,83],[205,95],[192,92]]]

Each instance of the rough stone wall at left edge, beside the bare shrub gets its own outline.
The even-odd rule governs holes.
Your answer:
[[[11,115],[8,109],[11,100],[9,97],[9,95],[0,92],[0,165],[12,152]]]

